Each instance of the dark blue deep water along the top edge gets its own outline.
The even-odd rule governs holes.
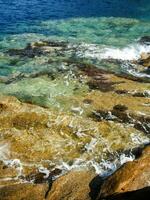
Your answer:
[[[150,0],[0,0],[1,33],[37,20],[111,16],[149,20]]]

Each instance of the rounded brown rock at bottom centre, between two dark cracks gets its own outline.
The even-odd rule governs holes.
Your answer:
[[[53,183],[47,200],[90,200],[89,183],[94,176],[89,171],[69,172]]]

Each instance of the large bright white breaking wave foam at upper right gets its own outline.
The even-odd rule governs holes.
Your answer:
[[[82,43],[72,45],[72,48],[76,48],[77,58],[88,60],[97,67],[117,73],[132,74],[135,77],[150,78],[150,75],[144,72],[144,69],[141,71],[140,67],[133,62],[138,61],[143,53],[150,53],[150,45],[140,44],[136,41],[122,48]]]

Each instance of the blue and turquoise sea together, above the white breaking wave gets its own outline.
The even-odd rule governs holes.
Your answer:
[[[36,33],[101,43],[111,34],[122,42],[148,34],[149,20],[149,0],[0,0],[0,35]]]

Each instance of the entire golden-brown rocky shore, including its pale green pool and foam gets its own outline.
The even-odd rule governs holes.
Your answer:
[[[40,41],[4,52],[34,65],[0,78],[0,200],[150,196],[149,53],[130,61],[147,75],[136,77],[75,50]]]

